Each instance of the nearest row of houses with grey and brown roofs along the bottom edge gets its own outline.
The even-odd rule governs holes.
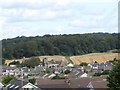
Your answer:
[[[94,89],[105,89],[107,90],[106,81],[107,76],[101,77],[84,77],[84,78],[69,78],[63,80],[51,80],[51,79],[42,79],[39,78],[36,81],[36,84],[33,85],[30,82],[25,82],[22,80],[13,80],[4,87],[6,90],[56,90],[56,89],[85,89],[85,90],[94,90]]]

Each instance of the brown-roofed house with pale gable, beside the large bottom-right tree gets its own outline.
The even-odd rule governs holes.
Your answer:
[[[87,89],[92,90],[93,88],[108,88],[107,87],[107,81],[106,81],[106,75],[101,77],[86,77],[86,78],[69,78],[66,80],[66,83],[70,86],[70,88],[79,88],[79,89]],[[103,84],[104,85],[103,85]],[[101,85],[99,85],[101,84]],[[79,90],[78,89],[78,90]],[[101,89],[100,89],[101,90]]]

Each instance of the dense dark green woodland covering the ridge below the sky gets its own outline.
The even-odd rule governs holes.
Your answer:
[[[4,59],[40,55],[82,55],[118,49],[118,33],[89,33],[16,37],[2,40]]]

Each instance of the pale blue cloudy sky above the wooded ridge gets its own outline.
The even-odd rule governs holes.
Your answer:
[[[118,32],[118,0],[0,0],[0,39]]]

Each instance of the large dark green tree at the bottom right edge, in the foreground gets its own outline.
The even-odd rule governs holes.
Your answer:
[[[120,60],[113,63],[113,69],[107,78],[108,87],[112,90],[120,90]]]

